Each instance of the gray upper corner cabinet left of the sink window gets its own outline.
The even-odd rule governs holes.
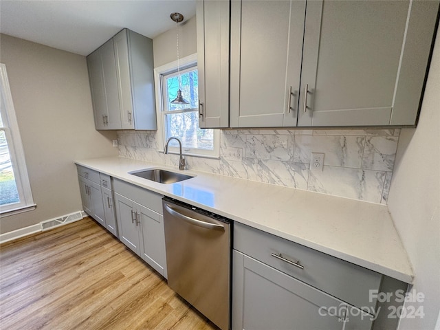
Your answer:
[[[151,39],[124,29],[87,65],[96,129],[157,129]]]

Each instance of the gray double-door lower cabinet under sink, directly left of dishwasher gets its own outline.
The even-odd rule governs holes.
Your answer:
[[[114,179],[119,239],[167,277],[162,195]]]

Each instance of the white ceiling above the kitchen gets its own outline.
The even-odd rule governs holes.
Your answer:
[[[155,38],[175,27],[172,12],[186,21],[195,0],[1,0],[0,32],[88,55],[122,28]]]

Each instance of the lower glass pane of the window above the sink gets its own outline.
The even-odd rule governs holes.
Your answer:
[[[165,115],[166,139],[175,136],[181,140],[183,148],[214,149],[214,130],[199,129],[199,113],[188,111]],[[170,146],[179,146],[176,140]]]

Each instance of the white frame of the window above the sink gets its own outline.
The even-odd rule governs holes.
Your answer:
[[[184,58],[179,58],[180,72],[185,72],[187,69],[197,69],[197,54],[192,54]],[[156,96],[156,114],[157,114],[157,147],[159,152],[164,152],[164,146],[166,143],[166,128],[165,128],[165,116],[170,113],[181,113],[189,111],[198,111],[197,108],[187,109],[187,111],[164,111],[164,84],[163,76],[172,74],[177,70],[177,61],[155,67],[154,80],[155,80],[155,96]],[[182,148],[182,153],[188,156],[194,157],[206,157],[219,159],[220,157],[220,135],[219,130],[214,129],[214,149],[203,150],[198,148]],[[179,154],[179,148],[177,146],[169,146],[169,153]]]

